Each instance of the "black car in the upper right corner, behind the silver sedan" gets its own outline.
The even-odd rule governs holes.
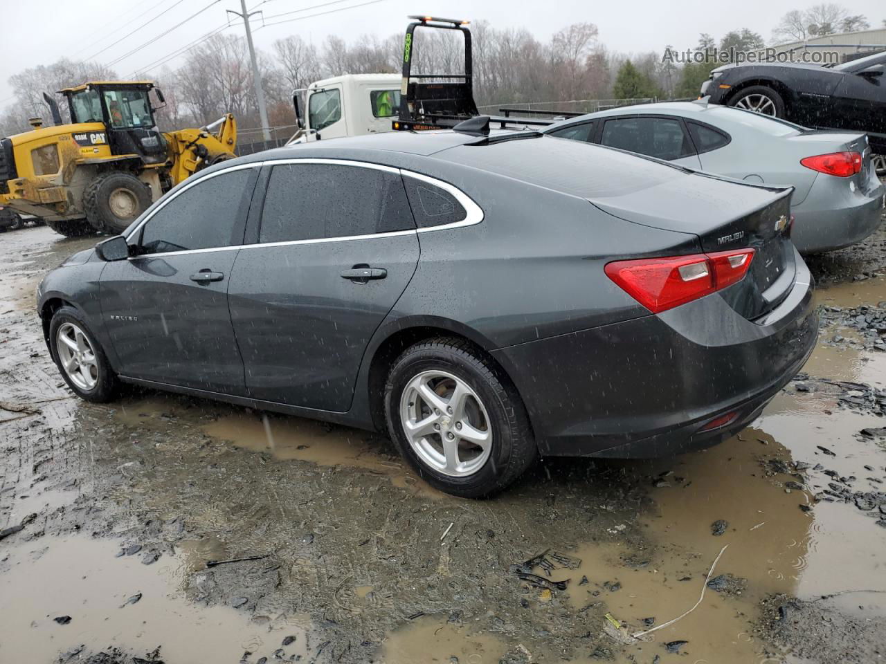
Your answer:
[[[866,132],[886,154],[886,53],[842,65],[758,63],[714,69],[702,85],[711,104],[737,106],[816,129]],[[878,170],[882,162],[878,164]]]

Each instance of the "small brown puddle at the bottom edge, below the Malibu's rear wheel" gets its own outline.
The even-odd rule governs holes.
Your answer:
[[[382,644],[381,664],[498,664],[508,647],[488,632],[447,622],[446,615],[424,615],[392,631]]]

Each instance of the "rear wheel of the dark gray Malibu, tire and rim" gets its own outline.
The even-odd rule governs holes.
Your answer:
[[[481,351],[455,339],[400,355],[385,385],[385,417],[419,475],[462,498],[501,491],[538,454],[517,390]]]

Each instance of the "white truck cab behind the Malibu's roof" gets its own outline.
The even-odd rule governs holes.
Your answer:
[[[392,131],[401,80],[399,73],[350,73],[295,90],[299,131],[287,144]]]

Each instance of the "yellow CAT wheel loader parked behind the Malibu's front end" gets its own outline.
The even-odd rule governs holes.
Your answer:
[[[33,214],[62,235],[120,233],[153,201],[201,168],[233,158],[237,122],[160,132],[151,81],[92,81],[59,90],[71,124],[49,95],[53,127],[0,138],[0,205]],[[160,106],[161,107],[161,106]]]

